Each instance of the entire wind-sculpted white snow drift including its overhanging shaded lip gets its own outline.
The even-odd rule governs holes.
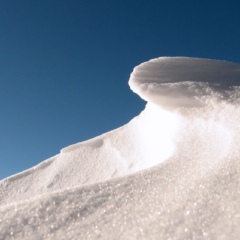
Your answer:
[[[158,58],[125,126],[0,182],[0,239],[240,239],[240,65]]]

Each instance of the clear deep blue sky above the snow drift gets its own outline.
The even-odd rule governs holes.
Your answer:
[[[0,179],[127,123],[134,66],[240,62],[238,1],[0,1]]]

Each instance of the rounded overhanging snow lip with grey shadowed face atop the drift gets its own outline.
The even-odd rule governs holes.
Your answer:
[[[239,64],[198,58],[162,57],[135,67],[130,88],[166,109],[200,107],[206,98],[229,100],[240,85]]]

